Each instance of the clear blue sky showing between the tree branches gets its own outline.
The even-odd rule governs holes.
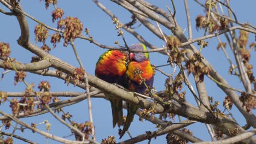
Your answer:
[[[82,21],[84,28],[90,29],[90,34],[94,38],[94,40],[98,41],[101,44],[104,45],[110,45],[115,46],[114,41],[118,40],[121,45],[123,44],[123,40],[121,37],[117,37],[117,31],[114,29],[114,25],[112,23],[112,20],[109,18],[108,15],[103,13],[103,11],[98,8],[92,1],[58,1],[57,8],[62,8],[65,12],[64,17],[66,16],[73,16],[78,17],[80,21]],[[131,19],[131,14],[129,14],[126,10],[119,7],[117,4],[114,4],[110,1],[100,1],[105,6],[111,10],[121,22],[126,23],[129,22]],[[149,1],[154,3],[155,5],[159,5],[159,7],[166,10],[166,4],[171,7],[171,1]],[[185,30],[185,34],[188,33],[187,28],[187,19],[185,15],[185,9],[183,1],[174,1],[176,5],[176,19],[179,24],[179,26]],[[21,1],[21,5],[24,9],[24,11],[33,17],[36,17],[38,20],[44,22],[46,25],[49,25],[51,27],[56,27],[56,22],[53,23],[51,21],[51,12],[54,10],[53,6],[50,5],[48,10],[45,9],[44,2],[39,1]],[[254,6],[256,5],[256,1],[231,1],[231,7],[235,11],[235,14],[237,16],[238,21],[240,22],[250,22],[252,25],[256,25],[256,19],[254,14],[256,13],[256,10]],[[3,5],[0,5],[1,9],[5,9]],[[199,14],[205,15],[205,12],[200,7],[200,5],[197,5],[194,1],[189,1],[189,8],[190,8],[190,14],[191,14],[191,22],[193,26],[193,38],[198,38],[203,36],[203,31],[196,31],[195,29],[195,17]],[[16,40],[20,37],[20,28],[18,25],[18,21],[16,20],[16,17],[14,16],[7,16],[2,13],[0,13],[0,19],[1,19],[1,25],[0,25],[0,41],[3,41],[4,43],[9,43],[11,47],[11,55],[10,57],[15,57],[17,61],[23,62],[23,63],[30,63],[31,57],[34,56],[32,53],[28,52],[24,48],[20,47]],[[27,19],[28,25],[30,26],[30,40],[33,44],[36,44],[38,46],[42,46],[40,43],[34,42],[34,27],[37,25],[36,22]],[[167,29],[163,29],[166,34],[171,35],[171,31],[167,31]],[[155,37],[152,33],[150,33],[146,28],[143,26],[136,29],[146,40],[150,41],[150,43],[161,47],[161,45],[165,45],[164,41],[160,40],[159,38]],[[50,31],[50,34],[53,34],[54,32]],[[138,40],[133,38],[132,35],[124,31],[124,35],[126,38],[126,41],[128,45],[133,43],[138,43]],[[188,34],[187,34],[188,35]],[[220,37],[223,38],[224,37]],[[254,35],[250,35],[250,41],[253,42]],[[216,68],[220,75],[225,77],[229,84],[232,87],[243,89],[242,83],[240,80],[237,79],[235,76],[231,76],[228,74],[229,70],[229,63],[226,61],[226,58],[224,57],[224,53],[222,51],[217,51],[217,40],[216,39],[208,39],[209,46],[203,49],[202,53],[203,56]],[[52,47],[52,44],[49,43],[50,39],[46,41],[49,46]],[[91,44],[89,41],[86,40],[75,40],[75,45],[78,49],[79,56],[82,58],[82,62],[84,64],[84,67],[86,71],[92,75],[94,75],[95,70],[95,64],[97,62],[98,57],[101,55],[102,52],[106,51],[104,49],[101,49],[100,47],[97,47],[94,44]],[[195,46],[197,46],[195,44]],[[229,52],[229,55],[232,60],[234,58],[231,56],[231,51],[228,47],[226,49]],[[50,51],[52,55],[55,55],[59,58],[61,58],[63,61],[66,61],[68,63],[71,63],[75,67],[79,67],[79,64],[77,60],[74,57],[74,53],[71,49],[71,46],[63,47],[62,43],[57,44],[55,49],[52,49]],[[251,63],[255,63],[255,52],[251,53],[252,59]],[[150,60],[152,61],[152,64],[155,65],[161,65],[166,64],[167,56],[161,55],[159,53],[150,53]],[[235,61],[233,61],[235,62]],[[162,70],[165,70],[166,73],[170,74],[172,73],[173,68],[165,67],[162,68]],[[253,69],[255,71],[255,68]],[[0,73],[2,73],[3,70],[0,70]],[[192,78],[191,75],[189,76],[190,79]],[[164,87],[166,77],[161,75],[159,72],[156,72],[155,75],[155,82],[154,87],[161,91]],[[4,76],[4,79],[0,81],[0,91],[6,91],[6,92],[23,92],[25,90],[25,85],[23,83],[18,83],[17,86],[14,86],[14,73],[8,73]],[[80,89],[78,87],[73,87],[73,85],[66,86],[62,80],[53,78],[53,77],[43,77],[38,75],[33,75],[31,73],[27,73],[26,81],[28,83],[35,83],[36,87],[38,86],[38,83],[43,80],[48,80],[51,85],[51,91],[77,91],[77,92],[84,92],[83,89]],[[191,79],[191,82],[193,83],[193,79]],[[225,93],[223,93],[215,83],[210,81],[209,79],[205,79],[206,82],[206,88],[208,95],[211,97],[214,97],[214,100],[219,100],[220,105],[222,105],[222,101],[224,100]],[[193,83],[193,86],[195,88],[195,85]],[[35,88],[36,91],[38,91],[37,88]],[[187,90],[184,86],[184,90]],[[186,95],[187,100],[195,104],[195,100],[193,96],[188,92]],[[63,99],[62,99],[63,100]],[[9,104],[5,103],[1,105],[0,109],[4,111],[10,112]],[[223,110],[223,107],[219,107],[220,110]],[[69,112],[73,115],[73,120],[76,122],[85,122],[89,121],[88,118],[88,105],[87,100],[84,100],[78,104],[75,104],[73,106],[68,106],[64,108],[65,112]],[[126,110],[124,110],[126,111]],[[94,116],[94,124],[96,125],[96,138],[98,142],[101,142],[102,139],[106,138],[109,135],[114,135],[116,137],[117,142],[118,140],[118,128],[112,128],[112,115],[110,110],[110,104],[108,101],[104,99],[92,99],[92,112]],[[241,114],[237,111],[236,107],[234,106],[232,108],[232,112],[237,118],[239,124],[245,125],[246,121],[241,116]],[[255,111],[254,111],[255,112]],[[59,115],[61,116],[61,115]],[[50,133],[53,133],[57,136],[68,136],[71,133],[69,132],[68,128],[66,128],[63,124],[56,121],[56,119],[51,116],[50,114],[41,115],[34,118],[22,118],[22,121],[31,124],[33,123],[40,123],[43,122],[44,119],[47,119],[52,127],[50,130]],[[185,118],[183,118],[185,119]],[[178,119],[176,118],[176,122],[178,122]],[[13,123],[15,124],[15,123]],[[45,125],[38,126],[40,130],[45,130]],[[210,135],[208,134],[205,124],[202,123],[195,123],[193,125],[190,125],[188,127],[191,131],[193,131],[193,134],[197,137],[200,137],[202,140],[211,140]],[[154,131],[156,130],[155,126],[147,121],[139,122],[138,117],[136,116],[133,123],[131,124],[131,127],[129,129],[132,136],[137,136],[139,134],[143,134],[145,131]],[[9,131],[11,133],[11,131]],[[32,141],[38,142],[38,143],[46,143],[46,139],[43,136],[38,136],[38,134],[33,134],[31,130],[25,130],[24,134],[21,134],[19,130],[15,134],[24,136],[27,139],[31,139]],[[74,136],[68,137],[68,139],[74,139]],[[129,139],[129,136],[125,134],[123,139],[121,141]],[[152,140],[152,143],[165,143],[165,136],[160,136],[156,140]],[[21,143],[19,140],[15,140],[15,143]],[[58,143],[56,141],[50,140],[50,143]],[[141,143],[146,143],[146,141],[143,141]]]

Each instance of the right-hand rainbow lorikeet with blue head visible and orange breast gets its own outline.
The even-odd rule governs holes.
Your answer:
[[[129,48],[131,50],[147,50],[144,44],[132,44]],[[129,57],[130,62],[126,71],[127,78],[129,79],[127,84],[128,89],[132,92],[144,94],[147,87],[151,88],[154,82],[153,68],[149,62],[149,55],[143,52],[131,52]],[[140,74],[136,74],[138,70]],[[141,78],[145,80],[147,86],[144,85]],[[137,105],[127,104],[127,116],[120,139],[125,134],[126,130],[129,129],[138,108]]]

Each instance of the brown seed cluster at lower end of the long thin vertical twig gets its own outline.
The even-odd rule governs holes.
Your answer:
[[[85,134],[85,139],[89,139],[89,136],[92,133],[92,123],[91,122],[85,122],[85,123],[75,123],[75,122],[71,122],[71,124],[79,129],[80,131],[82,131],[82,133]],[[72,133],[74,133],[74,131],[72,131]],[[82,141],[83,137],[81,137],[79,134],[74,133],[75,135],[75,140],[79,140]]]

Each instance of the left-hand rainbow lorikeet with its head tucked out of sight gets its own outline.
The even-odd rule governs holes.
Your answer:
[[[126,57],[118,50],[108,50],[104,52],[96,63],[95,75],[109,83],[125,85]],[[106,94],[112,107],[113,127],[118,127],[123,123],[123,101]]]

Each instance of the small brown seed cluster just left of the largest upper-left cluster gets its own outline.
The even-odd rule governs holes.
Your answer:
[[[45,40],[48,38],[48,29],[39,24],[34,28],[34,34],[36,34],[36,41],[45,43]]]

